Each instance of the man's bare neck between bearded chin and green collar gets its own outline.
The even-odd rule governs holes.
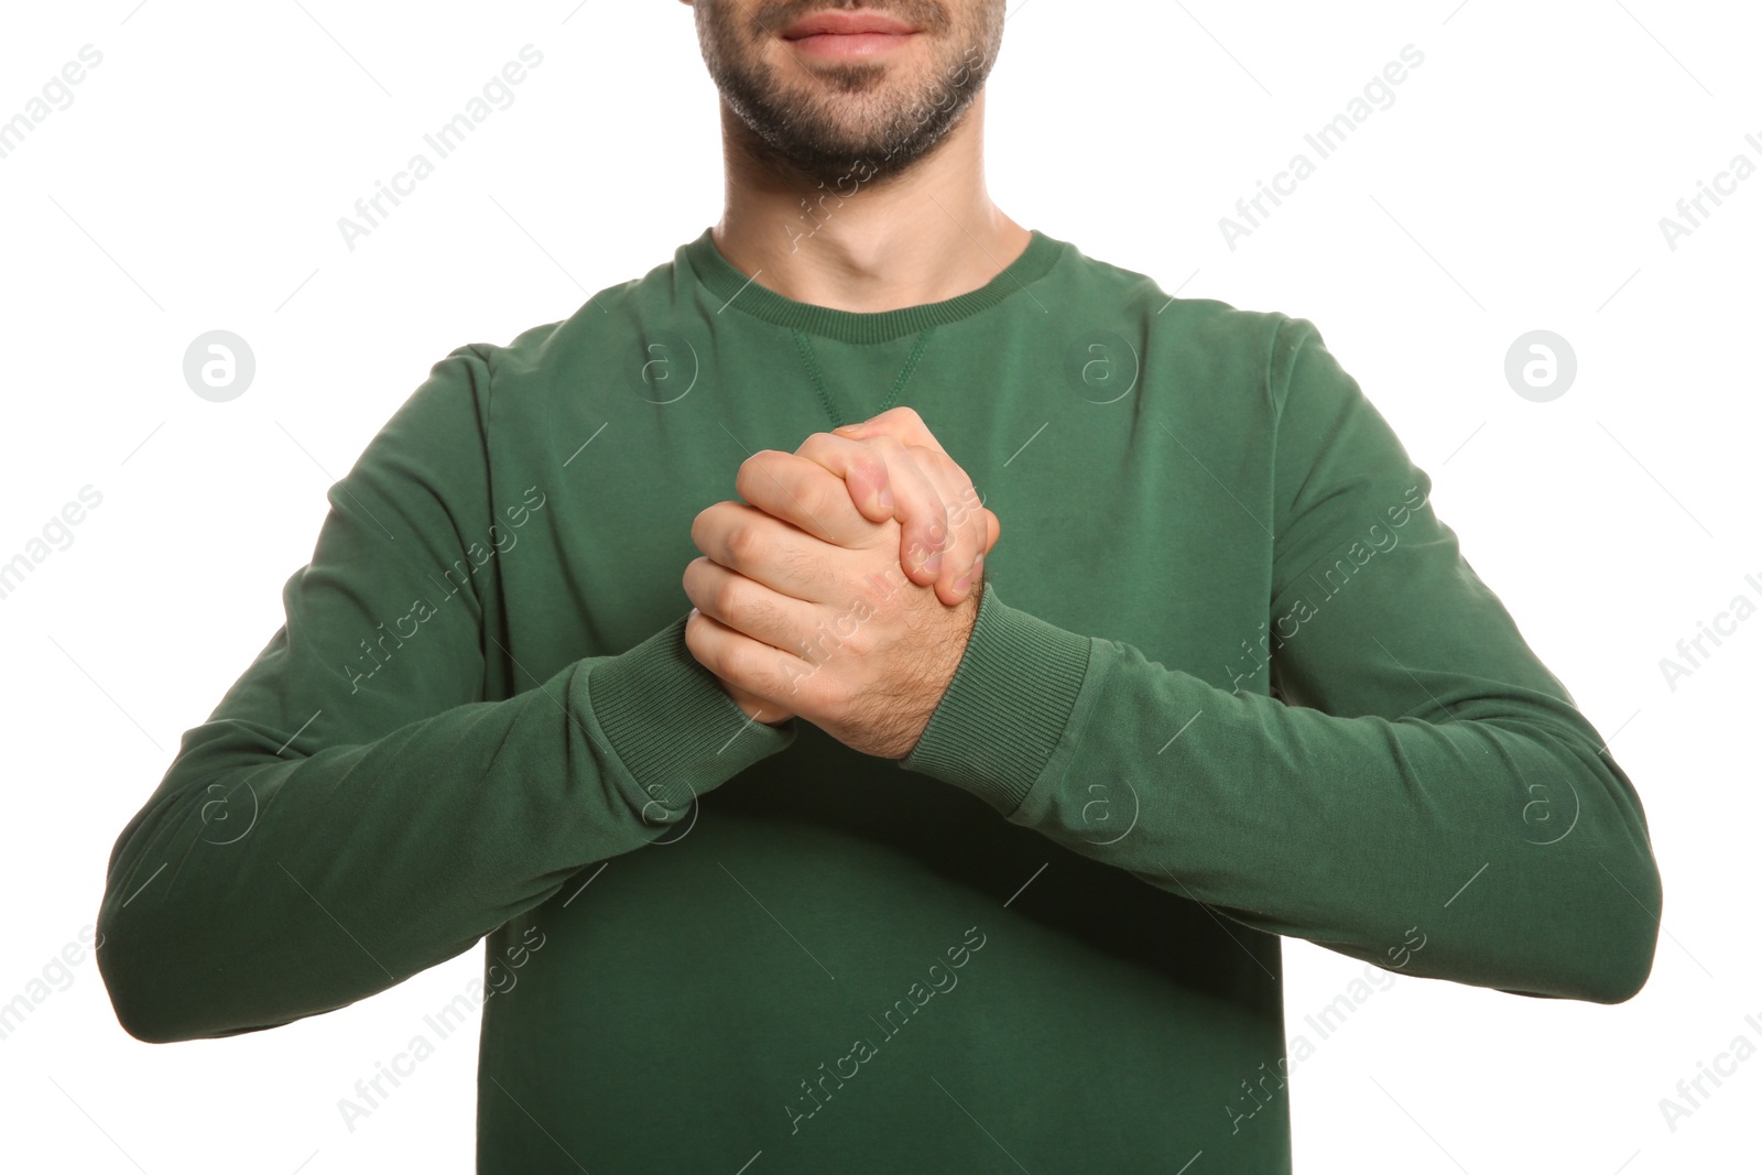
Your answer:
[[[881,162],[812,180],[784,174],[722,104],[728,192],[712,240],[759,285],[816,307],[881,312],[971,292],[1029,243],[985,192],[983,127],[981,92],[904,174]]]

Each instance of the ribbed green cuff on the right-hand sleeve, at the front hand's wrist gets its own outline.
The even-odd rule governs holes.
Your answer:
[[[1015,814],[1057,750],[1087,671],[1087,636],[1010,608],[985,583],[955,678],[899,766]]]

